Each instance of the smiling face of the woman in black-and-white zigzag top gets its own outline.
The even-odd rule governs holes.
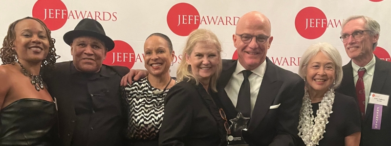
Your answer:
[[[144,66],[150,75],[161,76],[168,73],[174,51],[170,52],[167,41],[158,36],[151,36],[144,43]]]

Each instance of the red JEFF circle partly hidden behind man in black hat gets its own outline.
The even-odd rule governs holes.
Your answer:
[[[125,66],[131,69],[136,58],[133,48],[122,40],[114,40],[114,44],[114,49],[107,53],[103,64]]]

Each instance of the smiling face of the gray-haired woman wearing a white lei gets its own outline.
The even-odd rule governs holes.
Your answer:
[[[318,52],[308,61],[306,81],[309,91],[326,93],[334,79],[335,64],[328,56]]]

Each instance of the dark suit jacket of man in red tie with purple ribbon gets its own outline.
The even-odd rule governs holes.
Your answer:
[[[391,94],[391,62],[376,57],[375,72],[373,73],[370,92]],[[356,88],[353,81],[353,69],[350,62],[343,66],[344,77],[341,86],[336,90],[357,100]],[[369,94],[369,93],[367,93]],[[358,104],[357,104],[358,106]],[[367,105],[364,120],[361,123],[361,146],[390,146],[391,145],[391,100],[388,106],[383,106],[381,129],[372,129],[373,104]]]

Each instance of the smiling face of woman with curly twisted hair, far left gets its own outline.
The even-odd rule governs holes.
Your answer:
[[[34,19],[15,25],[14,47],[20,61],[41,63],[49,52],[49,39],[43,26]]]

